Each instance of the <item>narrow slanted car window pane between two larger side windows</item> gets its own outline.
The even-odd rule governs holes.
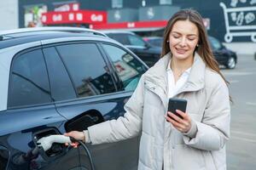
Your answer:
[[[76,93],[73,84],[55,48],[44,48],[43,52],[49,71],[52,98],[55,101],[75,99]]]

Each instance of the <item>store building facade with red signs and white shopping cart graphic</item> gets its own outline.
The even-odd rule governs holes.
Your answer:
[[[77,12],[67,4],[78,4]],[[256,42],[256,0],[20,0],[19,26],[84,26],[160,35],[180,8],[198,10],[208,34],[223,42]]]

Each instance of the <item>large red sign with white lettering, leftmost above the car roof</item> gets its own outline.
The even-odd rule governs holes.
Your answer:
[[[107,12],[94,10],[48,12],[42,14],[41,20],[44,25],[104,24],[107,23]]]

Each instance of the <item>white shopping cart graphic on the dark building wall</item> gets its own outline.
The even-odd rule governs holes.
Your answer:
[[[256,42],[256,7],[227,8],[224,3],[219,5],[224,9],[226,26],[224,40],[232,42],[233,37],[249,36],[253,42]]]

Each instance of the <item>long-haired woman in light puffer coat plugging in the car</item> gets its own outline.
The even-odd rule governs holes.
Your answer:
[[[170,98],[188,101],[186,113],[177,111],[183,119],[166,116]],[[118,120],[66,135],[102,144],[142,131],[140,170],[226,169],[229,92],[195,10],[180,10],[168,21],[161,59],[143,75],[125,111]]]

